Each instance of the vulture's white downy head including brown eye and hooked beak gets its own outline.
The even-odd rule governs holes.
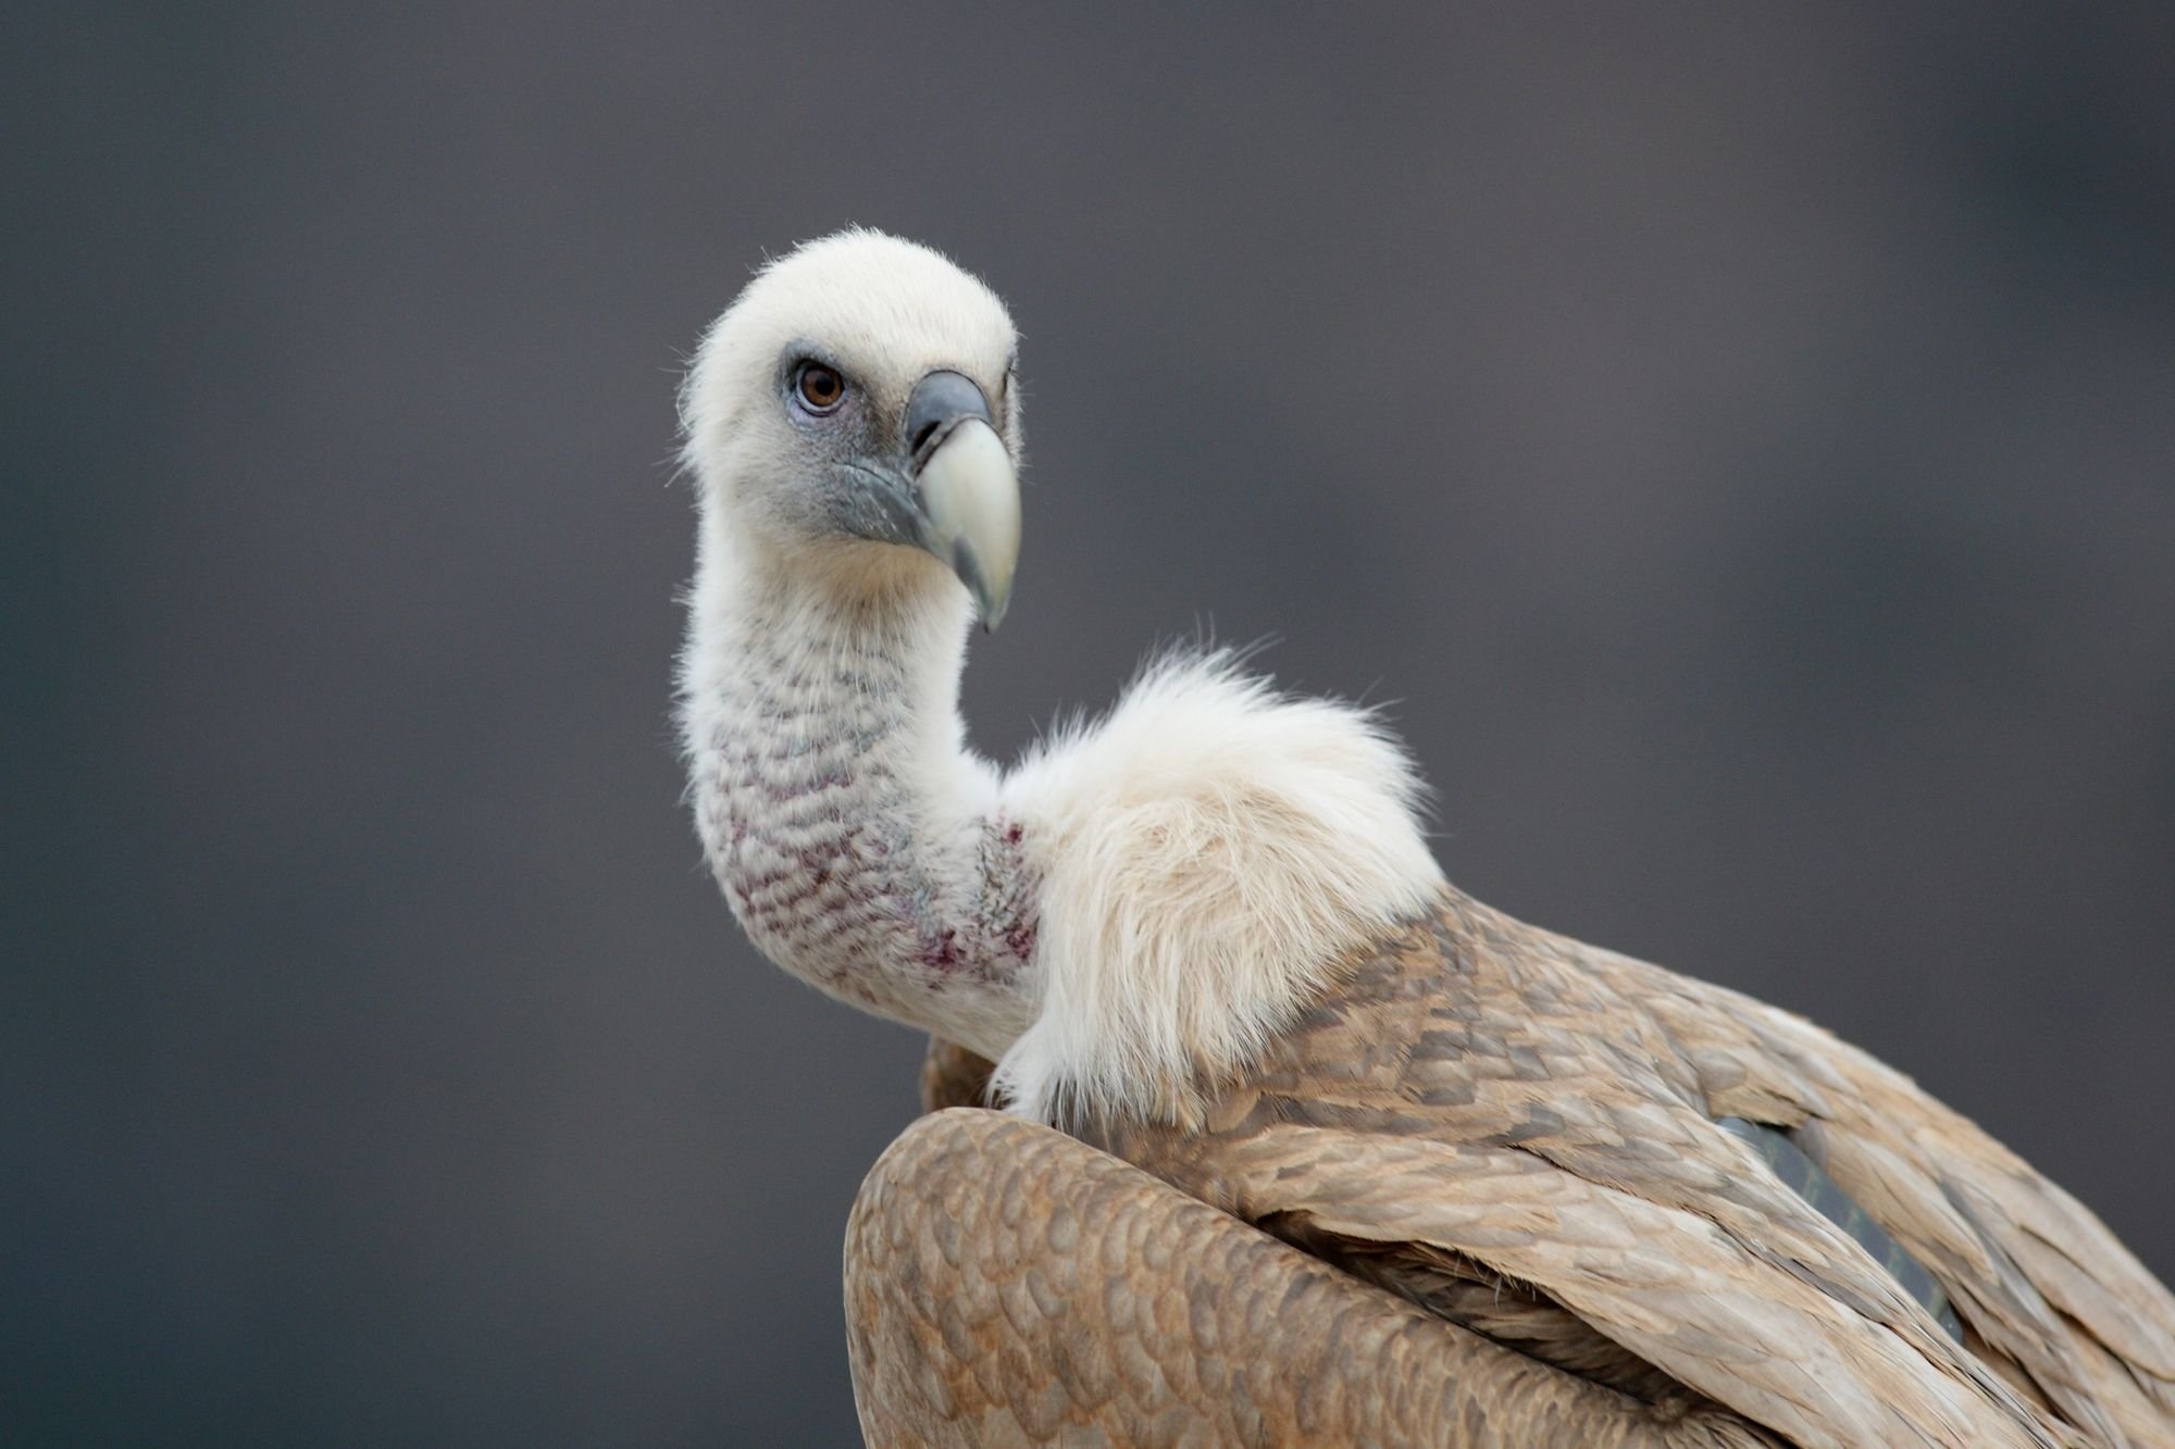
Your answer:
[[[911,242],[850,231],[774,263],[683,400],[718,542],[842,600],[948,572],[994,629],[1020,553],[1016,357],[996,294]]]

